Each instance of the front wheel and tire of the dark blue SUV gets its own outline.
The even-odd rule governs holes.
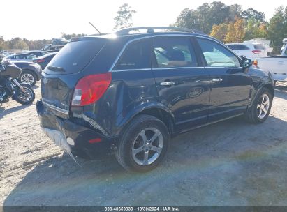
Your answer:
[[[252,106],[247,110],[245,114],[247,121],[249,121],[250,123],[263,123],[270,114],[272,100],[273,96],[270,90],[266,88],[260,89],[255,99],[253,100]],[[265,105],[262,103],[264,103]]]

